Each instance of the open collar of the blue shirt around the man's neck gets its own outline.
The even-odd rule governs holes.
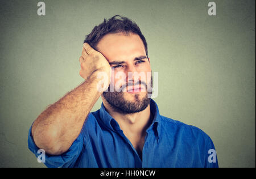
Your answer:
[[[158,110],[158,105],[152,99],[150,100],[150,111],[151,111],[151,114],[154,115],[154,119],[153,119],[150,127],[148,127],[148,129],[146,131],[149,132],[150,130],[153,130],[155,135],[157,137],[159,137],[159,133],[160,133],[160,125],[159,125],[160,114],[159,114],[159,110]],[[114,118],[112,116],[110,116],[110,114],[106,111],[106,108],[103,105],[103,103],[101,103],[100,118],[101,118],[101,121],[110,130],[113,130],[113,131],[121,130],[117,121],[115,121]]]

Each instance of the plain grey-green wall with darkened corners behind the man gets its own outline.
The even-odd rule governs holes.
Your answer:
[[[0,1],[0,167],[44,167],[28,129],[78,86],[82,41],[104,18],[134,20],[159,74],[160,114],[213,140],[220,167],[255,167],[255,1]],[[100,108],[99,99],[93,108]]]

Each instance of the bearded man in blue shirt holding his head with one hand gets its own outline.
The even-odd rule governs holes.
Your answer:
[[[86,36],[79,61],[85,82],[29,131],[28,147],[36,156],[46,152],[47,167],[218,167],[208,135],[160,116],[150,99],[152,78],[129,75],[151,76],[137,24],[118,15],[105,19]],[[101,109],[90,113],[100,96]]]

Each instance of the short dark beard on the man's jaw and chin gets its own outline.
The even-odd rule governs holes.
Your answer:
[[[139,82],[142,84],[141,82]],[[127,85],[128,86],[128,85]],[[119,112],[122,114],[131,114],[131,113],[138,113],[142,110],[146,109],[148,104],[150,104],[150,96],[152,92],[147,91],[147,84],[144,83],[144,86],[146,86],[146,95],[142,98],[142,100],[139,100],[139,94],[135,94],[135,102],[127,101],[123,98],[124,92],[110,92],[110,87],[108,89],[108,92],[103,92],[103,96],[108,101],[108,103],[112,106],[112,109],[115,112]],[[152,76],[151,76],[151,88],[152,88]]]

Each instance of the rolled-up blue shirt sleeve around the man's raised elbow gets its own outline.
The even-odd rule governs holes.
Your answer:
[[[79,137],[77,137],[77,139],[72,143],[67,152],[61,155],[48,155],[45,152],[42,152],[42,150],[36,146],[32,137],[31,127],[28,131],[28,148],[35,154],[38,159],[40,159],[38,161],[43,162],[47,167],[51,168],[73,167],[75,165],[76,160],[81,154],[82,148],[84,147],[84,137],[82,132],[79,134]]]

